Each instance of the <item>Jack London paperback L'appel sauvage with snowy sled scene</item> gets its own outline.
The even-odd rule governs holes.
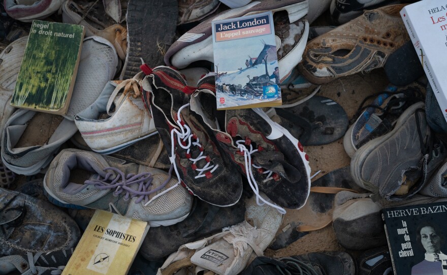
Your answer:
[[[281,105],[272,12],[212,21],[218,110]]]

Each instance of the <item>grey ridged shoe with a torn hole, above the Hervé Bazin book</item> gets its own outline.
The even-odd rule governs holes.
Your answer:
[[[362,146],[351,174],[374,199],[402,200],[416,194],[447,156],[425,119],[424,102],[408,107],[389,133]]]

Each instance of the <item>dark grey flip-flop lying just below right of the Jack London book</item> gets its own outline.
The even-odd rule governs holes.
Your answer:
[[[269,117],[296,137],[302,145],[332,143],[346,132],[346,112],[334,100],[315,95],[291,108],[275,108]]]

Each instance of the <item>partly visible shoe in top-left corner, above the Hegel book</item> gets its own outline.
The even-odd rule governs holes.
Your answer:
[[[46,18],[58,11],[63,3],[60,0],[20,1],[23,4],[17,2],[5,0],[3,6],[9,16],[23,22]]]

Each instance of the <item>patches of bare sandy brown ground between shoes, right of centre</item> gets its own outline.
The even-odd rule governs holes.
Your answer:
[[[383,69],[379,68],[369,74],[356,74],[344,78],[339,78],[331,83],[322,85],[317,95],[326,96],[338,104],[345,110],[349,119],[352,119],[356,113],[362,100],[373,93],[382,91],[388,85],[388,80]],[[350,158],[343,148],[343,139],[339,139],[324,146],[308,146],[304,148],[310,157],[310,166],[312,174],[321,170],[321,173],[312,179],[316,179],[328,174],[330,171],[347,166],[350,164]],[[304,208],[305,209],[305,208]],[[286,228],[290,223],[308,220],[309,225],[322,226],[332,220],[332,214],[320,215],[318,217],[309,216],[307,211],[288,210],[284,216],[282,225],[278,234],[282,233],[282,229]],[[292,255],[300,255],[308,252],[320,251],[345,251],[341,247],[335,237],[335,232],[331,225],[313,231],[288,247],[279,250],[267,249],[266,256],[284,257]]]

